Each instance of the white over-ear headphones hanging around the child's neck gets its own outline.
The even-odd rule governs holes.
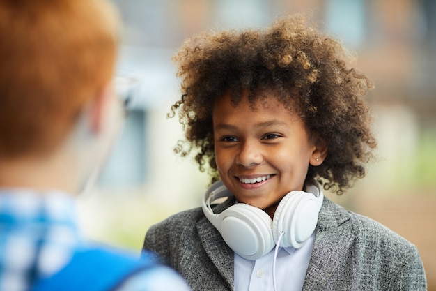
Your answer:
[[[236,203],[220,214],[214,214],[210,204],[233,194],[222,181],[212,184],[202,200],[203,213],[221,233],[226,244],[242,258],[257,260],[279,246],[300,248],[312,235],[321,209],[322,186],[318,181],[307,185],[304,191],[291,191],[281,200],[271,219],[260,208]]]

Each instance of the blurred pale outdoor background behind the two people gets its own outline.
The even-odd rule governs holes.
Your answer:
[[[343,40],[375,82],[377,159],[365,179],[327,196],[416,244],[428,290],[436,290],[436,1],[111,0],[123,17],[118,72],[137,79],[134,102],[98,187],[80,198],[91,239],[140,251],[150,225],[198,207],[208,176],[173,152],[183,137],[166,114],[179,97],[171,57],[185,38],[210,29],[266,27],[309,13]]]

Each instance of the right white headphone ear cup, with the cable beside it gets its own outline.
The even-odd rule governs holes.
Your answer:
[[[319,207],[316,197],[304,191],[291,191],[277,206],[272,223],[274,241],[281,232],[279,246],[300,248],[309,239],[318,223]]]

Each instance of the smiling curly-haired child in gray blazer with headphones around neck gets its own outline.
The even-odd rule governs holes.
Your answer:
[[[198,291],[426,290],[416,246],[322,195],[364,177],[376,147],[371,80],[341,43],[290,16],[201,33],[175,59],[178,150],[215,183],[202,207],[150,227],[144,249]]]

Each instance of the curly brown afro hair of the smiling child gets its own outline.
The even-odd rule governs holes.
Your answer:
[[[309,25],[304,15],[279,18],[266,30],[198,34],[185,40],[173,60],[182,97],[169,116],[178,112],[187,139],[175,151],[187,156],[194,150],[200,170],[209,165],[212,181],[219,178],[212,107],[228,91],[238,104],[244,90],[251,103],[274,92],[325,140],[327,157],[317,167],[309,165],[306,180],[322,179],[325,189],[340,195],[364,177],[364,163],[377,145],[364,100],[372,82],[350,67],[352,55],[341,43]]]

